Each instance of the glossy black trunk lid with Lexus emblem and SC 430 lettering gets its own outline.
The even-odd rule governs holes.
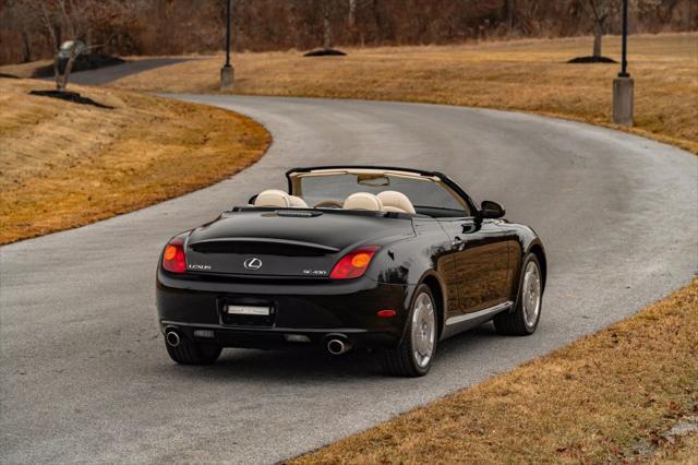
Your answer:
[[[192,231],[186,265],[192,273],[326,278],[348,250],[409,235],[410,220],[372,214],[231,212]]]

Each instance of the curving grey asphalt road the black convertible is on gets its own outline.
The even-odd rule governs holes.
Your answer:
[[[263,122],[256,165],[208,189],[0,249],[2,462],[270,463],[365,429],[599,330],[688,283],[698,157],[609,129],[520,114],[369,102],[185,96]],[[421,379],[349,354],[224,351],[173,365],[154,274],[174,233],[297,165],[437,169],[504,203],[547,247],[531,337],[491,326],[440,346]]]

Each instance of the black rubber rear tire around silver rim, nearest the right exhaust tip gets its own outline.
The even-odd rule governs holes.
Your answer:
[[[431,356],[429,357],[428,361],[423,365],[420,366],[420,363],[417,361],[417,356],[414,354],[414,347],[412,345],[412,325],[413,325],[413,315],[416,312],[416,307],[417,307],[417,302],[419,297],[425,294],[426,296],[429,296],[429,299],[431,300],[432,303],[432,315],[433,315],[433,348],[431,350]],[[417,377],[423,377],[424,374],[426,374],[429,372],[429,369],[432,366],[432,362],[434,361],[434,356],[436,355],[436,345],[437,345],[437,341],[438,341],[438,312],[437,312],[437,306],[438,303],[436,302],[436,300],[434,300],[434,296],[431,291],[431,289],[429,288],[429,286],[422,284],[420,285],[417,290],[414,291],[414,297],[412,298],[412,303],[410,305],[410,314],[408,318],[408,321],[405,325],[405,334],[402,335],[402,338],[400,341],[400,343],[398,344],[398,346],[394,349],[387,349],[384,350],[382,356],[383,356],[383,368],[385,370],[385,372],[387,374],[392,374],[395,377],[409,377],[409,378],[417,378]]]

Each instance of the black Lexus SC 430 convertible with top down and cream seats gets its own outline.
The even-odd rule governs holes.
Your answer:
[[[216,361],[224,347],[374,349],[393,374],[425,374],[438,341],[494,320],[535,331],[545,252],[531,228],[478,207],[441,172],[291,169],[288,192],[174,236],[157,270],[167,351]]]

